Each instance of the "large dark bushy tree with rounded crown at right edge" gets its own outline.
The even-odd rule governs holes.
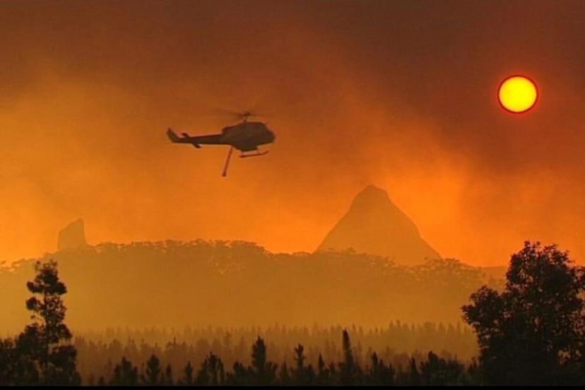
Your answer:
[[[525,242],[504,291],[483,286],[463,309],[488,384],[583,383],[584,268],[555,245]]]

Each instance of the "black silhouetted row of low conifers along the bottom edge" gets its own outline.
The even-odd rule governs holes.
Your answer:
[[[331,385],[455,385],[482,384],[478,365],[467,367],[456,359],[441,358],[435,353],[404,357],[398,363],[387,362],[372,352],[367,360],[355,355],[348,331],[342,331],[341,359],[334,362],[319,354],[316,362],[309,362],[302,344],[293,348],[291,362],[280,364],[269,358],[268,345],[257,337],[252,345],[249,364],[236,361],[226,365],[219,355],[208,353],[194,366],[188,360],[180,370],[152,353],[138,367],[132,359],[122,357],[108,367],[109,375],[96,379],[90,375],[88,384],[133,385],[264,385],[264,386],[331,386]]]

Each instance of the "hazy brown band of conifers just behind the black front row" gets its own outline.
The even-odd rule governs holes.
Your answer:
[[[317,325],[308,327],[272,326],[224,329],[201,328],[169,332],[158,329],[122,331],[109,329],[102,333],[77,333],[73,345],[78,350],[78,371],[84,382],[92,378],[108,378],[114,364],[122,358],[131,362],[146,362],[155,355],[173,372],[179,372],[187,361],[203,362],[209,353],[222,358],[225,367],[235,362],[249,365],[249,345],[261,335],[268,347],[267,356],[275,362],[294,364],[294,348],[304,346],[305,361],[317,367],[319,356],[325,362],[343,360],[343,348],[339,335],[341,326],[329,328]],[[351,326],[353,356],[356,362],[367,363],[375,352],[377,357],[392,367],[407,367],[410,358],[423,362],[429,350],[447,360],[462,364],[471,362],[478,353],[475,333],[468,326],[451,324],[401,324],[396,321],[384,328],[365,330]]]

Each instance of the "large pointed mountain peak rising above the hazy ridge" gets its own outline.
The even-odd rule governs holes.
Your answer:
[[[386,191],[373,185],[355,196],[348,212],[317,251],[345,249],[387,256],[405,265],[441,257],[420,237],[416,225],[392,203]]]

